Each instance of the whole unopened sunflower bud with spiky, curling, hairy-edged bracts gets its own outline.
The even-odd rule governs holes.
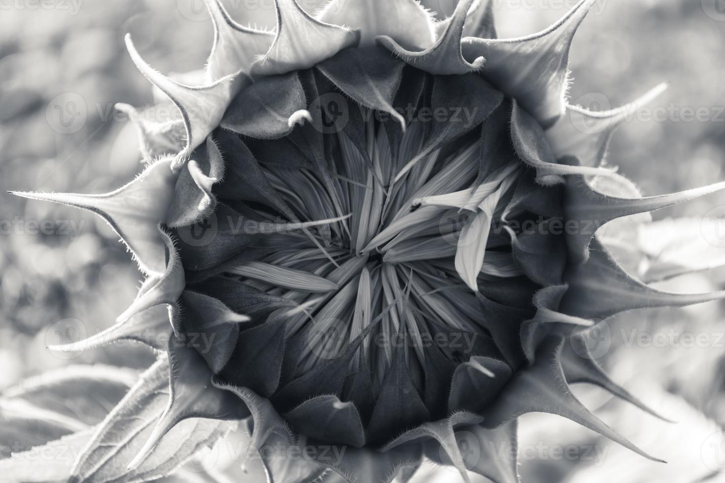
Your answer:
[[[425,459],[517,482],[515,458],[495,450],[515,455],[531,412],[653,458],[569,391],[590,382],[650,411],[585,335],[621,311],[722,294],[661,293],[595,232],[724,186],[642,198],[604,164],[632,106],[566,101],[569,47],[595,0],[510,39],[492,3],[460,0],[434,20],[415,0],[332,0],[314,15],[276,0],[266,31],[207,0],[207,67],[175,78],[126,38],[179,112],[117,106],[134,114],[144,172],[103,195],[15,193],[99,214],[146,275],[115,325],[52,348],[133,339],[159,354],[86,436],[70,481],[167,476],[240,423],[270,482],[405,482]],[[164,411],[151,409],[159,394]],[[262,453],[273,441],[287,456],[334,452]]]

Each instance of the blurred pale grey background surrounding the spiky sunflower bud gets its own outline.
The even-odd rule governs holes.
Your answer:
[[[575,4],[492,1],[501,37],[541,30]],[[271,0],[224,3],[239,22],[273,27]],[[301,2],[309,10],[316,3]],[[424,3],[444,14],[455,7],[455,0]],[[5,194],[103,193],[140,172],[136,133],[113,105],[145,106],[153,100],[150,85],[125,51],[125,33],[164,73],[201,68],[212,41],[200,0],[0,0],[0,390],[67,364],[143,368],[153,360],[148,351],[128,344],[72,355],[46,350],[109,327],[133,299],[141,276],[99,218]],[[600,0],[576,35],[570,67],[572,103],[587,105],[587,99],[603,95],[609,105],[594,109],[620,106],[663,80],[670,83],[654,104],[663,106],[664,114],[633,116],[610,146],[609,163],[642,193],[725,179],[723,0]],[[654,217],[664,220],[658,227],[703,238],[698,220],[723,204],[725,196],[710,196]],[[669,217],[691,222],[675,226]],[[714,271],[663,287],[702,292],[724,285],[725,273]],[[725,481],[720,472],[725,470],[723,308],[709,303],[639,311],[608,323],[600,364],[677,424],[610,400],[603,391],[576,390],[598,416],[668,465],[639,458],[563,419],[532,415],[520,429],[523,481]],[[641,334],[661,337],[648,343]],[[683,343],[684,334],[704,335],[704,342]],[[562,455],[570,446],[573,456]],[[424,469],[418,478],[455,482],[460,477]]]

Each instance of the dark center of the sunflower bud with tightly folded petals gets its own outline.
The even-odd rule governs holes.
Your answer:
[[[405,131],[321,75],[300,78],[319,96],[310,104],[336,105],[281,139],[215,133],[228,166],[215,186],[218,235],[181,253],[191,290],[252,322],[225,328],[204,357],[225,358],[219,377],[282,414],[318,395],[354,403],[369,442],[480,411],[523,359],[518,333],[537,287],[504,228],[530,216],[511,201],[532,176],[511,148],[508,104],[431,148],[465,122],[450,116],[476,107],[436,105],[438,77],[406,67],[399,92],[421,93],[396,106]],[[341,106],[349,120],[336,125]],[[482,149],[492,122],[500,146]]]

